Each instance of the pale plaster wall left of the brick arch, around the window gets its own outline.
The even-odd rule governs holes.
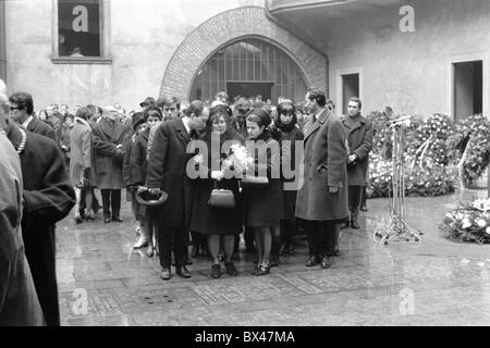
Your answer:
[[[54,1],[5,3],[9,92],[32,92],[36,109],[51,102],[138,108],[145,97],[158,97],[170,59],[201,23],[231,9],[264,5],[264,0],[112,0],[106,23],[112,63],[53,64]]]

